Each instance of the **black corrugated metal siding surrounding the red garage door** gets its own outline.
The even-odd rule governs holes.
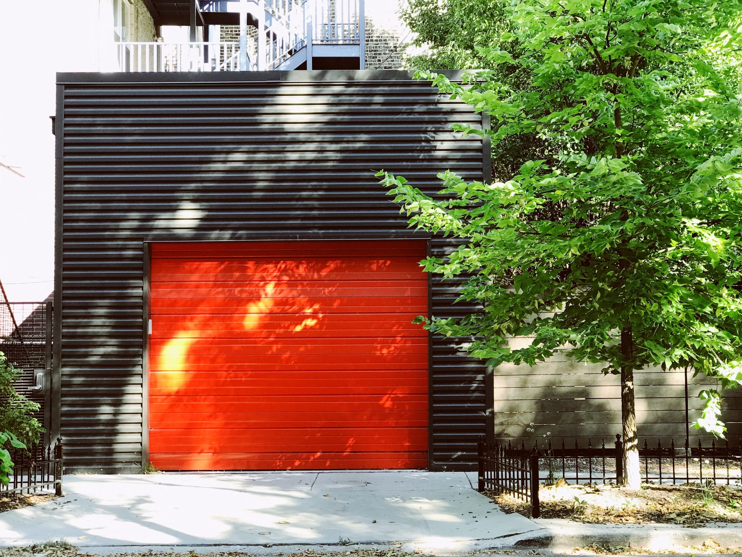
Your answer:
[[[70,469],[142,466],[145,242],[420,238],[374,171],[428,192],[446,169],[482,179],[482,140],[450,130],[481,117],[403,72],[59,74],[58,82],[57,331]],[[434,239],[433,253],[448,244]],[[456,284],[436,279],[432,290],[435,315],[467,309],[452,305]],[[432,359],[433,466],[468,469],[485,427],[484,372],[441,338]]]

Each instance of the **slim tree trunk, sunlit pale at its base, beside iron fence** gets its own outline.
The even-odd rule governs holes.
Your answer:
[[[621,330],[621,354],[626,360],[634,354],[634,336],[631,327]],[[631,365],[621,368],[621,423],[623,424],[623,485],[640,489],[642,479],[639,467],[639,441],[637,440],[637,412],[634,405],[634,369]]]

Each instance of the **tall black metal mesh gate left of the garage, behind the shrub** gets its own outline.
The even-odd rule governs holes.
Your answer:
[[[4,296],[3,296],[4,297]],[[36,419],[51,430],[52,302],[0,301],[0,352],[20,370],[16,391],[41,408]]]

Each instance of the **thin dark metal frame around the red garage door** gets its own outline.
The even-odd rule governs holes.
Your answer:
[[[393,241],[393,240],[420,240],[425,241],[426,244],[426,256],[430,257],[430,236],[422,235],[407,235],[407,237],[398,238],[379,238],[379,237],[364,237],[358,236],[355,238],[286,238],[285,235],[260,235],[260,238],[239,238],[235,240],[220,241],[220,243],[228,244],[244,243],[251,241]],[[213,243],[214,240],[209,238],[204,239],[188,239],[185,241],[164,241],[154,242],[147,241],[144,244],[144,261],[142,261],[144,268],[144,283],[142,287],[142,304],[144,311],[142,312],[142,464],[144,466],[149,462],[149,356],[150,356],[150,345],[149,345],[149,320],[150,315],[150,299],[151,299],[151,266],[152,266],[152,245],[153,244],[199,244],[199,243]],[[431,273],[427,273],[427,314],[428,316],[433,314],[433,277]],[[433,470],[433,333],[428,331],[427,333],[427,469]]]

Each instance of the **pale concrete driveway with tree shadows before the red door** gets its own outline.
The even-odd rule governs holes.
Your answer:
[[[65,497],[0,515],[0,546],[65,538],[99,553],[338,541],[471,550],[542,529],[501,512],[472,479],[410,471],[70,475]]]

